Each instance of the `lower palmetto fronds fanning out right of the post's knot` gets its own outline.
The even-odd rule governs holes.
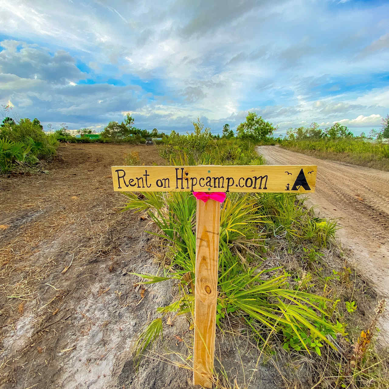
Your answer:
[[[308,347],[300,336],[303,331],[310,331],[312,338],[320,338],[334,347],[324,334],[344,334],[344,331],[326,320],[328,314],[320,308],[320,303],[328,300],[291,289],[288,275],[277,275],[277,270],[279,268],[259,270],[258,267],[244,266],[231,252],[222,251],[219,258],[219,310],[223,308],[226,314],[234,312],[242,317],[262,339],[266,329],[278,332],[282,326],[288,325],[306,350]],[[321,324],[322,331],[317,329],[316,323]]]

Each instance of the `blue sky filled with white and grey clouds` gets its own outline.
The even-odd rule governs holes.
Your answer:
[[[0,0],[0,104],[47,128],[213,133],[249,111],[278,126],[389,113],[389,2]]]

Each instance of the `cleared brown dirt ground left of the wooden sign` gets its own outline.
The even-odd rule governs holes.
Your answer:
[[[164,163],[155,146],[70,144],[47,174],[0,178],[0,387],[108,387],[169,301],[128,274],[156,272],[147,221],[112,190],[129,151]]]

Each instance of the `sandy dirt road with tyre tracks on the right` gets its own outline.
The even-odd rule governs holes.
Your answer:
[[[257,148],[268,165],[317,165],[316,191],[308,204],[321,217],[336,219],[337,234],[357,270],[389,307],[389,172],[313,158],[278,146]],[[382,297],[381,297],[382,298]],[[380,327],[389,344],[389,314]],[[386,335],[385,335],[386,334]]]

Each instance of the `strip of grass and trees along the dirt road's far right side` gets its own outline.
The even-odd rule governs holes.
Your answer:
[[[281,145],[286,149],[303,152],[317,158],[332,159],[389,171],[389,115],[382,120],[380,131],[371,130],[367,137],[358,137],[335,123],[321,130],[317,123],[310,127],[289,129]]]

